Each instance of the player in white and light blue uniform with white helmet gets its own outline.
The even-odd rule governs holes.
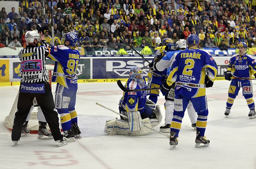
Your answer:
[[[167,75],[170,74],[170,69],[172,66],[172,63],[175,60],[175,56],[187,49],[187,41],[185,39],[180,39],[176,42],[176,49],[178,50],[172,50],[169,52],[164,51],[164,56],[159,62],[153,63],[153,70],[163,71],[167,69]],[[174,86],[172,85],[172,89],[169,92],[165,93],[165,125],[160,127],[161,132],[170,133],[170,127],[171,127],[171,121],[173,116],[173,107],[174,107]],[[195,112],[195,109],[193,108],[193,105],[191,102],[188,103],[188,116],[190,118],[190,121],[192,123],[192,127],[196,127],[196,118],[197,114]]]

